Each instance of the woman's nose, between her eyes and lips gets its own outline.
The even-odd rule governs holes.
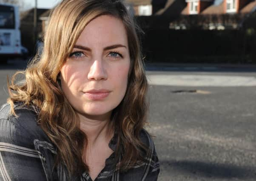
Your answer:
[[[91,81],[100,81],[107,80],[108,75],[105,70],[105,66],[102,61],[95,60],[90,67],[90,71],[88,72],[88,80]]]

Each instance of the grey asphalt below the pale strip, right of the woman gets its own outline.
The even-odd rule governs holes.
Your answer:
[[[151,86],[150,95],[160,181],[256,180],[255,87]]]

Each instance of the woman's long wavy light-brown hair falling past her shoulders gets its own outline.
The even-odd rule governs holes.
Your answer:
[[[11,114],[14,103],[35,106],[40,111],[38,123],[57,146],[55,166],[63,164],[69,175],[88,171],[84,150],[87,138],[79,128],[76,112],[65,98],[58,75],[86,25],[96,17],[111,15],[122,20],[128,36],[131,57],[128,86],[122,102],[112,112],[111,120],[117,134],[116,159],[122,157],[119,169],[128,170],[143,161],[147,149],[139,139],[146,123],[148,89],[138,38],[139,28],[120,0],[63,0],[51,13],[44,36],[41,56],[35,56],[25,71],[17,72],[9,81]],[[26,77],[16,84],[19,74]],[[74,159],[70,159],[74,158]]]

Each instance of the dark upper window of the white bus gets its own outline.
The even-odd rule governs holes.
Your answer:
[[[15,28],[13,7],[0,5],[0,28]]]

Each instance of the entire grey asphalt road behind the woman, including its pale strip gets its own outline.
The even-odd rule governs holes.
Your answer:
[[[24,67],[0,65],[1,104],[6,75]],[[159,181],[256,181],[256,69],[210,67],[148,67]]]

